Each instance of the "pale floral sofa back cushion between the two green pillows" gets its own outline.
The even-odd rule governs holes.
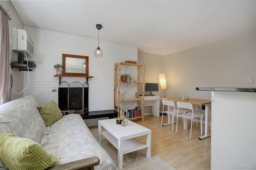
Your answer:
[[[0,105],[0,134],[12,132],[40,143],[46,125],[32,96],[25,96]]]

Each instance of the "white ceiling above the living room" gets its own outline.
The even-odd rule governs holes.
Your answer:
[[[168,55],[256,30],[256,0],[11,0],[23,23]]]

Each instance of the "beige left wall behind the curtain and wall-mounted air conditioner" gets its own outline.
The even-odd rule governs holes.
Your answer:
[[[20,19],[20,16],[16,12],[15,8],[12,6],[12,3],[7,0],[1,0],[0,4],[4,7],[5,10],[9,10],[8,14],[12,18],[12,20],[9,20],[9,38],[12,39],[12,27],[17,27],[19,29],[24,29],[24,24],[22,20]],[[12,44],[10,45],[10,62],[12,61],[18,61],[18,54],[14,51],[12,51]],[[21,92],[23,90],[23,71],[19,72],[18,69],[14,68],[12,69],[12,89],[16,91],[17,93]],[[16,94],[12,91],[11,93],[11,100],[18,99],[20,97],[23,97],[23,93]]]

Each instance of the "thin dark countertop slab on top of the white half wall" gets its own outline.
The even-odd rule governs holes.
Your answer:
[[[203,91],[256,92],[256,87],[196,87],[196,90],[203,90]]]

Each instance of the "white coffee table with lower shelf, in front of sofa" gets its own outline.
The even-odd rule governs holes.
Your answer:
[[[107,131],[102,132],[101,127]],[[151,157],[151,130],[129,121],[125,127],[116,124],[116,119],[98,121],[99,143],[101,134],[118,149],[118,168],[123,168],[123,154],[127,154],[143,148],[146,149],[146,157]],[[146,135],[146,144],[138,141],[135,137]]]

